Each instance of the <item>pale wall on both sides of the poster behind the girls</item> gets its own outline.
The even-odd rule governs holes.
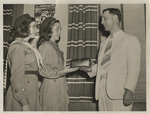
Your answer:
[[[34,17],[34,6],[36,4],[24,4],[24,14],[29,13]],[[59,48],[64,52],[64,59],[66,61],[67,51],[67,36],[68,36],[68,4],[56,4],[54,17],[58,19],[62,26],[61,40]]]

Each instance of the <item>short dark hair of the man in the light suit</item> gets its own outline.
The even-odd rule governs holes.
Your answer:
[[[121,22],[121,12],[120,12],[119,9],[117,9],[117,8],[107,8],[107,9],[104,9],[104,10],[103,10],[103,13],[104,13],[105,11],[109,11],[109,13],[114,14],[114,15],[117,15],[119,22]]]

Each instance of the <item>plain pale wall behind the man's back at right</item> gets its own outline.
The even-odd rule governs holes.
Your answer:
[[[146,100],[146,32],[145,13],[143,4],[125,4],[124,10],[124,31],[136,36],[141,44],[141,70],[138,84],[135,90],[137,101]]]

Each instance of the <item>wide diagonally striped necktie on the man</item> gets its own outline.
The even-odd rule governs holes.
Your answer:
[[[109,38],[109,41],[107,43],[104,56],[102,58],[101,66],[103,69],[106,69],[109,66],[109,61],[111,57],[111,48],[112,48],[112,37]]]

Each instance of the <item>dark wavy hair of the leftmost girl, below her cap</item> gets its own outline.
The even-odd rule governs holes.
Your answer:
[[[15,39],[16,37],[26,38],[30,34],[30,23],[35,21],[33,17],[28,17],[23,21],[17,28],[12,28],[11,36]]]

